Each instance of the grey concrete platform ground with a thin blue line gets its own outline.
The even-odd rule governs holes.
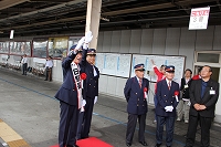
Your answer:
[[[24,76],[21,75],[21,72],[0,67],[0,119],[13,128],[32,147],[49,147],[57,144],[60,107],[53,96],[61,83],[43,80],[43,77],[30,74]],[[149,106],[146,119],[146,141],[149,147],[154,147],[156,144],[156,124],[152,120],[154,111]],[[126,147],[126,101],[101,94],[94,107],[90,135],[114,147]],[[176,122],[172,147],[185,146],[187,127],[188,124]],[[213,124],[211,128],[213,147],[221,147],[220,136],[221,126]],[[196,139],[197,147],[200,140],[199,130]],[[131,147],[141,147],[138,143],[137,132]]]

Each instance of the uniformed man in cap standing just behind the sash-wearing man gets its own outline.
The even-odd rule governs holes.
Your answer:
[[[77,139],[88,138],[94,104],[98,96],[99,71],[94,65],[96,57],[95,49],[84,49],[82,53],[81,72],[86,74],[83,82],[83,97],[86,101],[84,109],[80,113],[77,126]]]

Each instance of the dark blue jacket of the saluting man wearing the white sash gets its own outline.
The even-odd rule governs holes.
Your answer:
[[[66,74],[62,86],[55,94],[55,98],[65,102],[70,105],[77,105],[77,91],[72,73],[71,63],[74,60],[76,54],[69,55],[63,62],[62,67],[65,69]]]

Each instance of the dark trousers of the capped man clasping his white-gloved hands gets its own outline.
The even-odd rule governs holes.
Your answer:
[[[166,145],[171,146],[173,139],[175,117],[165,117],[157,115],[157,144],[162,143],[164,125],[166,124]]]

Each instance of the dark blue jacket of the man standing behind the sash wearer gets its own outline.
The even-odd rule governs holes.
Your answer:
[[[83,82],[83,97],[94,98],[95,96],[98,96],[99,71],[96,66],[94,66],[97,73],[97,75],[94,76],[94,69],[93,65],[86,61],[86,53],[87,50],[83,50],[82,62],[80,64],[81,73],[86,73],[86,80]]]

